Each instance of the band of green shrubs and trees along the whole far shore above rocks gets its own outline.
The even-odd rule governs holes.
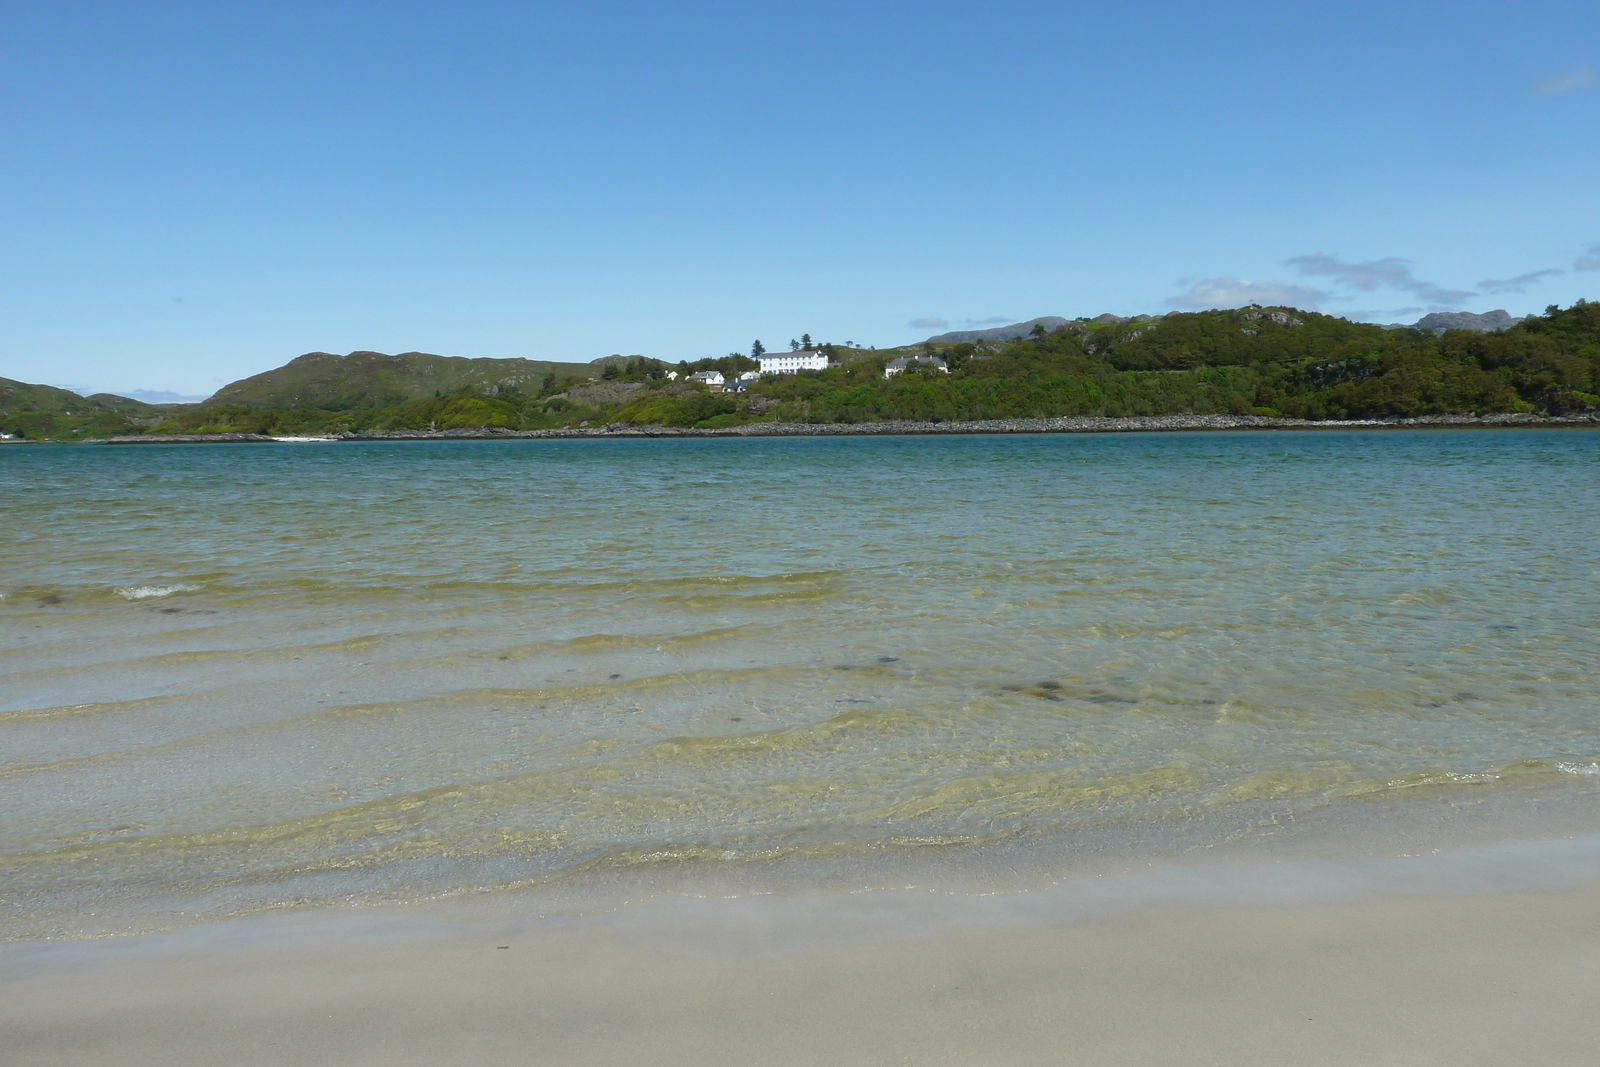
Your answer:
[[[1077,320],[1013,342],[925,344],[914,352],[827,346],[826,371],[768,376],[739,394],[669,381],[726,378],[757,363],[605,363],[600,381],[554,370],[515,386],[328,406],[211,403],[141,418],[123,432],[330,434],[403,429],[550,429],[634,424],[968,421],[1051,416],[1261,414],[1352,419],[1600,410],[1600,304],[1549,307],[1502,333],[1384,330],[1293,309],[1246,307],[1139,322]],[[939,355],[944,374],[896,355]],[[389,357],[392,358],[392,357]],[[70,395],[70,394],[69,394]],[[131,402],[130,402],[131,403]],[[96,418],[102,432],[110,411]],[[0,414],[16,424],[14,416]],[[37,434],[35,434],[37,435]],[[82,435],[78,435],[82,438]]]

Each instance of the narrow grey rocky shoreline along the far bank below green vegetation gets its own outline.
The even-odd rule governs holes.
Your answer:
[[[328,442],[459,442],[459,440],[547,440],[595,437],[880,437],[942,434],[1157,434],[1179,430],[1350,430],[1350,429],[1469,429],[1469,427],[1600,427],[1600,413],[1571,416],[1539,414],[1430,414],[1414,419],[1272,419],[1254,414],[1163,414],[1058,419],[979,419],[973,422],[749,422],[720,430],[675,426],[597,426],[563,430],[386,430],[336,434],[315,438],[283,438],[266,434],[150,434],[112,437],[101,445],[202,445],[202,443],[282,443]]]

